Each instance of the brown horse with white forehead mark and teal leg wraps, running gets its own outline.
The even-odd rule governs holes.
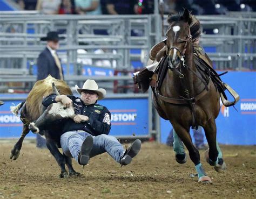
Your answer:
[[[220,110],[220,94],[211,77],[195,65],[192,41],[199,37],[200,23],[191,24],[191,17],[185,9],[167,19],[167,51],[159,63],[157,87],[152,97],[160,117],[170,120],[173,125],[177,162],[186,162],[184,143],[196,166],[199,182],[211,182],[189,132],[191,126],[204,127],[209,145],[207,161],[215,170],[223,172],[226,166],[216,141],[215,124]]]

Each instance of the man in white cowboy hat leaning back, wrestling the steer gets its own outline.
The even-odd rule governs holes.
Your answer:
[[[87,165],[95,155],[107,152],[121,165],[128,165],[139,153],[141,141],[136,139],[124,150],[122,144],[109,136],[111,113],[97,103],[106,96],[106,90],[98,88],[94,80],[86,80],[83,88],[75,86],[80,97],[52,94],[43,100],[44,106],[62,102],[64,107],[74,107],[76,116],[63,126],[60,145],[66,156],[76,159],[80,165]]]

